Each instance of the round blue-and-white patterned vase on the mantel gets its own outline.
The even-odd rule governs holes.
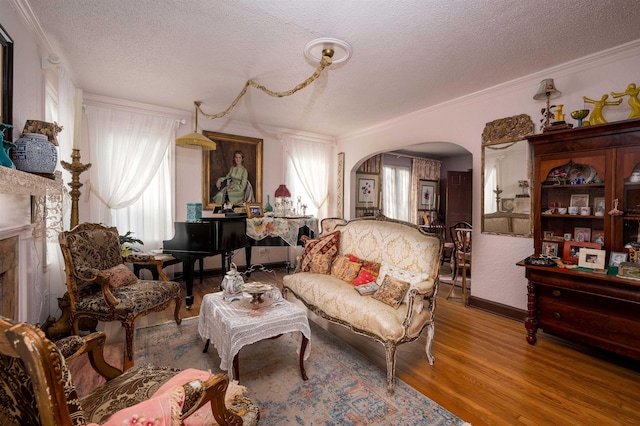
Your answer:
[[[47,136],[25,133],[15,142],[11,158],[18,170],[29,173],[53,173],[58,162],[58,152]]]

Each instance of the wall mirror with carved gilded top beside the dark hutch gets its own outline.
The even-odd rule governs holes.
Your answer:
[[[531,237],[531,148],[526,114],[487,123],[482,133],[482,232]]]

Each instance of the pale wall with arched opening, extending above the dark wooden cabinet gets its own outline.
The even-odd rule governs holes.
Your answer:
[[[553,78],[562,96],[553,101],[564,104],[569,113],[583,109],[582,96],[599,99],[612,91],[622,92],[638,81],[640,40],[606,52],[582,58],[544,72],[504,83],[486,91],[416,111],[380,125],[338,138],[338,152],[345,153],[345,211],[354,217],[355,168],[365,158],[392,149],[426,142],[452,142],[473,155],[473,233],[472,288],[474,297],[526,309],[524,269],[516,262],[533,252],[533,240],[480,233],[481,212],[481,135],[486,123],[498,118],[529,114],[538,124],[544,101],[533,95],[544,78]],[[592,109],[592,105],[586,104]],[[624,120],[631,109],[626,100],[619,107],[604,110],[608,121]],[[536,126],[539,131],[539,126]]]

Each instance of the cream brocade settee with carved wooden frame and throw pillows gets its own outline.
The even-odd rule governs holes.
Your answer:
[[[382,343],[387,391],[392,394],[398,345],[417,339],[426,329],[426,355],[429,364],[434,363],[431,344],[442,237],[381,215],[339,224],[329,233],[323,229],[323,234],[305,244],[296,271],[283,278],[283,293],[293,294],[322,318]],[[355,264],[361,269],[357,276]],[[374,284],[363,284],[364,272],[373,275]],[[362,295],[356,289],[360,285],[380,288]],[[385,300],[389,296],[395,301]]]

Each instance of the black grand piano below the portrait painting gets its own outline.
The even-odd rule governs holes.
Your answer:
[[[163,252],[182,262],[187,285],[186,305],[193,305],[193,275],[196,260],[208,256],[222,256],[222,271],[226,274],[230,254],[245,248],[247,265],[251,264],[251,246],[246,233],[246,215],[202,218],[197,222],[175,222],[175,235],[163,241]],[[202,265],[202,264],[201,264]]]

